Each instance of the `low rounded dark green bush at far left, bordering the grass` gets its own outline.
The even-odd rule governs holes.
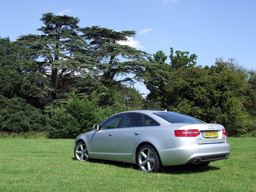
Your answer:
[[[48,116],[28,104],[22,98],[5,98],[0,95],[0,131],[4,132],[42,132],[48,130]]]

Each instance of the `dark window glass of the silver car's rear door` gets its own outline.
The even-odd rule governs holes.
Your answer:
[[[121,128],[142,127],[142,114],[126,113]]]

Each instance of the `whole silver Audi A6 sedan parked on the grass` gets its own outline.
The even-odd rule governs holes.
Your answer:
[[[146,172],[162,166],[227,159],[230,145],[220,124],[176,112],[137,110],[115,114],[76,137],[76,160],[92,158],[138,164]]]

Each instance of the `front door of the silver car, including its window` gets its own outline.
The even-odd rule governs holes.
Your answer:
[[[90,155],[113,158],[112,137],[123,114],[112,116],[100,124],[100,130],[90,135]]]

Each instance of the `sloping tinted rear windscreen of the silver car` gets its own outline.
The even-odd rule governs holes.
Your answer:
[[[204,123],[200,120],[175,112],[155,112],[153,113],[170,123]]]

